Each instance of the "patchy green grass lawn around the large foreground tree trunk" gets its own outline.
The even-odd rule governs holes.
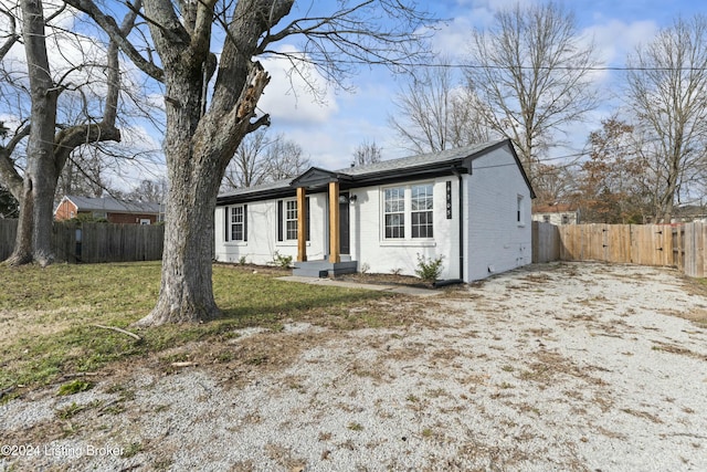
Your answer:
[[[131,328],[159,291],[160,263],[0,266],[0,391],[72,378],[109,363],[146,357],[193,342],[222,342],[236,329],[306,321],[335,328],[404,323],[378,292],[275,280],[272,269],[214,265],[223,317],[205,324]],[[136,333],[141,339],[96,325]],[[6,399],[11,395],[6,395]]]

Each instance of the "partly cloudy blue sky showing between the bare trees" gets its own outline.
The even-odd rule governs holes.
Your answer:
[[[442,0],[419,3],[441,20],[431,39],[433,52],[452,61],[464,62],[471,31],[488,27],[495,11],[511,7],[516,1],[518,0]],[[519,1],[521,4],[538,3],[538,0]],[[339,2],[340,0],[296,1],[292,15],[303,15],[304,12],[326,14],[336,11]],[[0,0],[3,6],[11,3],[14,1]],[[106,4],[119,6],[110,2]],[[563,6],[574,13],[583,41],[593,41],[602,65],[614,67],[623,66],[626,54],[637,45],[650,42],[661,28],[669,27],[676,18],[707,14],[707,3],[697,0],[564,0]],[[72,28],[74,17],[66,13],[65,18],[60,18],[60,22],[62,21],[65,24],[60,25]],[[89,44],[84,44],[80,49],[74,48],[74,51],[62,45],[50,50],[50,53],[54,59],[60,59],[62,55],[70,56],[73,52],[81,54],[88,48]],[[296,42],[285,41],[277,44],[277,48],[281,51],[298,51]],[[59,53],[56,50],[62,51]],[[219,53],[215,42],[212,50]],[[15,56],[22,55],[21,48],[18,48]],[[355,149],[363,143],[374,143],[382,148],[383,159],[411,154],[389,124],[390,116],[397,113],[395,95],[409,83],[410,75],[393,74],[384,66],[361,66],[348,77],[347,83],[351,90],[345,91],[327,86],[326,81],[313,72],[312,77],[318,78],[321,85],[320,99],[315,99],[306,91],[302,80],[289,80],[287,64],[283,61],[267,57],[260,60],[272,76],[258,103],[262,113],[271,115],[270,133],[282,134],[286,139],[298,144],[313,166],[326,169],[346,168],[352,161]],[[135,67],[128,70],[127,74],[135,83],[143,81],[141,73]],[[618,90],[621,85],[620,72],[598,71],[594,76],[602,91]],[[618,105],[616,97],[608,95],[605,98],[603,105],[588,116],[587,123],[566,129],[570,147],[555,149],[556,155],[572,155],[581,150],[589,133],[598,129],[601,119],[610,116]],[[150,99],[160,101],[161,97],[157,94]],[[11,117],[3,113],[0,109],[0,119],[9,123]],[[160,133],[149,126],[136,126],[126,130],[124,136],[133,136],[131,140],[149,150],[159,149],[162,140]],[[122,166],[122,170],[110,178],[112,186],[129,190],[139,185],[141,179],[163,178],[163,165],[149,160],[143,160],[137,168]]]

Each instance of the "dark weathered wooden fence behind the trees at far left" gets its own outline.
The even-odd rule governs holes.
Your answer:
[[[17,223],[0,220],[0,260],[12,253]],[[54,256],[70,263],[157,261],[163,240],[161,224],[54,222],[52,231]]]

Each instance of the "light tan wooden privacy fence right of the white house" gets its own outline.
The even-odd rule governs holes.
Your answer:
[[[693,277],[707,276],[707,223],[532,223],[532,262],[605,261],[667,265]]]

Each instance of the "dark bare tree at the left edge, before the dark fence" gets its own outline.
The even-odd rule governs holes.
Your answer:
[[[53,201],[59,176],[66,160],[74,149],[85,144],[120,140],[120,132],[115,126],[120,84],[118,49],[117,44],[112,42],[106,53],[107,62],[102,65],[106,71],[106,95],[102,116],[96,119],[88,107],[85,107],[86,113],[81,123],[59,126],[60,95],[66,91],[81,93],[81,84],[67,81],[74,69],[54,77],[48,55],[48,41],[55,31],[51,29],[52,34],[48,34],[48,25],[64,12],[65,6],[55,8],[45,15],[43,2],[21,0],[19,10],[22,18],[27,80],[20,81],[22,84],[18,87],[29,93],[31,108],[29,116],[19,119],[10,140],[0,148],[0,179],[20,203],[18,235],[14,250],[7,262],[25,264],[36,261],[45,265],[53,261]],[[2,13],[8,14],[6,11]],[[13,17],[17,22],[19,14]],[[128,34],[135,19],[134,12],[127,14],[119,28],[123,34]],[[9,48],[3,46],[2,53],[8,54],[18,42],[19,40],[15,40]],[[7,70],[3,70],[3,75],[8,76]],[[27,153],[23,159],[19,159],[13,154],[24,140]]]

